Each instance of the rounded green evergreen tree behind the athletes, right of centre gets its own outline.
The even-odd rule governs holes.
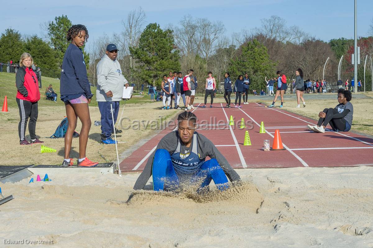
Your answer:
[[[241,53],[231,60],[228,67],[232,82],[235,82],[239,74],[244,76],[247,73],[251,79],[250,89],[258,92],[265,89],[264,78],[276,73],[276,63],[269,59],[267,48],[254,39],[243,44],[240,50]]]

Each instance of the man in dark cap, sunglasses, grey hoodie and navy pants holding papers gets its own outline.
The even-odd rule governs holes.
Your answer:
[[[119,61],[117,61],[118,49],[116,45],[109,44],[106,47],[106,54],[97,63],[97,90],[96,100],[101,113],[101,143],[115,144],[110,136],[114,131],[122,133],[122,130],[114,129],[118,112],[119,101],[122,100],[123,86],[129,86],[128,81],[122,75]],[[113,116],[114,122],[112,118]]]

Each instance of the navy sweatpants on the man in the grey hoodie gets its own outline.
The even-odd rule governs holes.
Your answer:
[[[113,108],[114,124],[118,118],[119,102],[98,102],[98,109],[101,113],[101,139],[109,139],[112,135],[113,129],[113,118],[112,112],[110,112],[110,104]]]

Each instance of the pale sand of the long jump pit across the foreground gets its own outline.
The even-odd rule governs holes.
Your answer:
[[[141,193],[126,204],[139,174],[1,184],[15,198],[0,206],[0,247],[373,247],[373,167],[237,172],[258,191],[247,183],[207,203]]]

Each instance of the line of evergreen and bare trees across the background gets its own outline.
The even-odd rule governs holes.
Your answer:
[[[85,24],[89,31],[89,23]],[[91,83],[96,83],[95,67],[109,43],[117,44],[120,50],[117,59],[123,74],[137,85],[159,86],[163,74],[193,69],[200,92],[204,89],[207,71],[213,72],[217,82],[223,81],[227,71],[232,80],[248,73],[252,82],[250,88],[260,90],[266,87],[264,78],[274,77],[278,70],[286,74],[289,82],[295,78],[298,68],[304,71],[304,80],[323,79],[328,57],[324,78],[335,83],[342,55],[341,80],[352,79],[353,40],[338,38],[324,42],[298,26],[287,26],[278,16],[261,19],[259,27],[229,36],[222,22],[203,18],[185,17],[164,28],[157,23],[145,24],[145,12],[138,8],[122,20],[122,32],[89,39],[88,48],[83,50]],[[52,22],[41,25],[46,31],[44,38],[22,37],[18,31],[6,29],[0,38],[0,61],[17,60],[23,51],[28,51],[35,63],[44,69],[43,75],[59,77],[62,58],[69,45],[65,36],[71,25],[67,16],[57,16]],[[373,33],[373,24],[370,32]],[[372,36],[359,38],[358,45],[361,47],[358,77],[363,80],[365,56],[368,55],[369,60],[373,55]],[[370,68],[370,61],[367,68]],[[371,90],[370,78],[369,69],[366,71],[367,90]]]

